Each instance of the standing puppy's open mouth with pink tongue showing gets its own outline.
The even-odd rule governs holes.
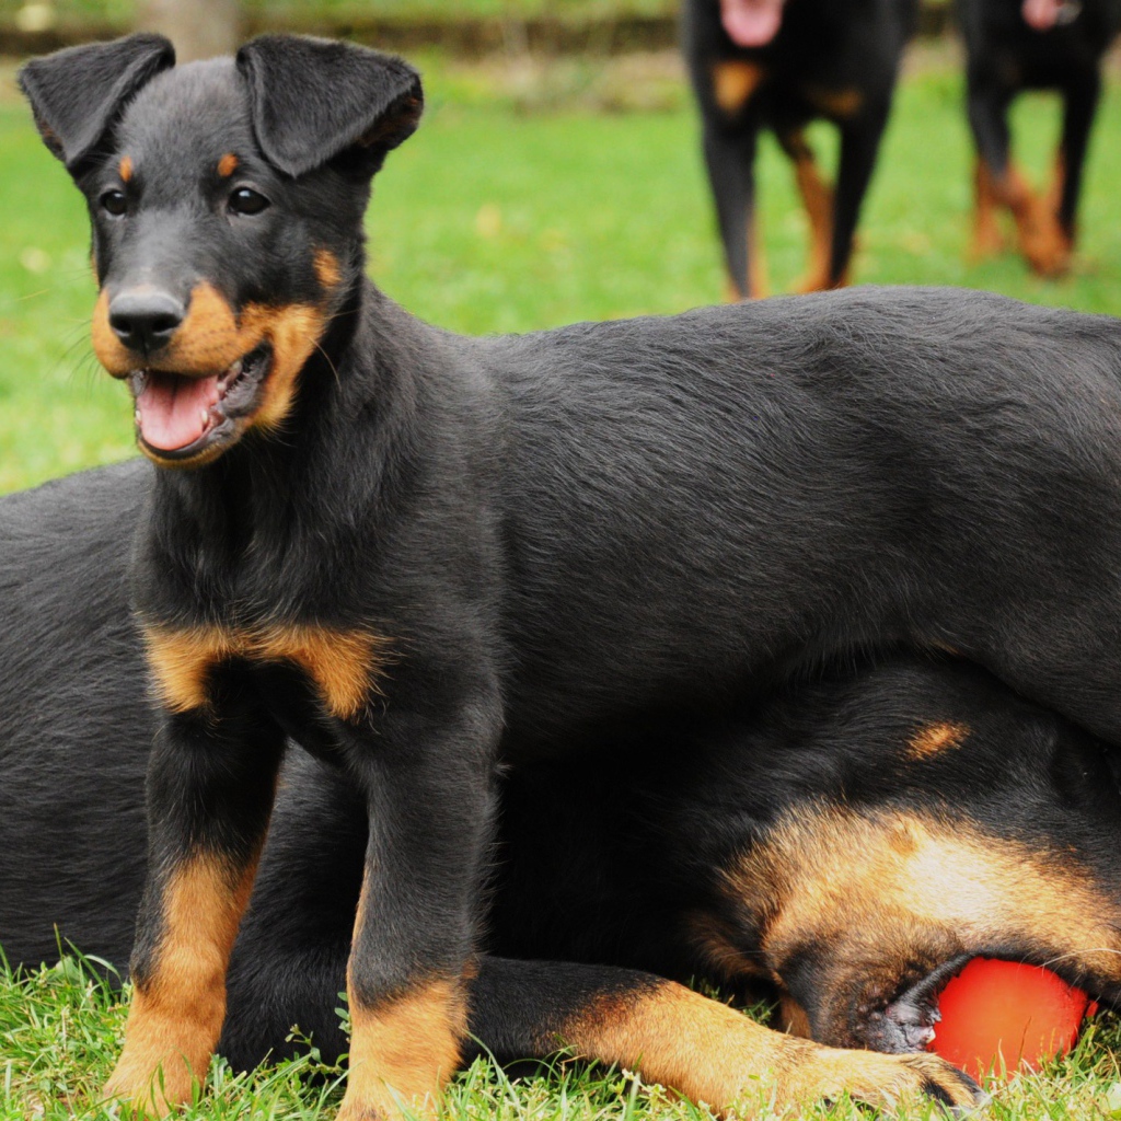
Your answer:
[[[272,351],[262,343],[222,373],[189,376],[167,370],[133,370],[140,439],[165,460],[187,460],[232,436],[238,421],[259,405]]]

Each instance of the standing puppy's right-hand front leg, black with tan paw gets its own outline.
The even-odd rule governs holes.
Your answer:
[[[430,1111],[460,1065],[499,716],[479,696],[455,710],[437,720],[395,689],[377,736],[349,753],[370,840],[346,969],[343,1121]]]

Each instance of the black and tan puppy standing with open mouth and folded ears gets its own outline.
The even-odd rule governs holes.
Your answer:
[[[434,1099],[458,1062],[502,766],[887,642],[1121,742],[1114,321],[882,290],[458,337],[362,274],[370,176],[420,111],[405,63],[262,37],[174,68],[138,36],[21,81],[87,198],[94,349],[159,466],[131,582],[161,719],[111,1093],[160,1109],[205,1069],[289,735],[369,819],[348,1119]],[[884,1077],[752,1038],[744,1080]],[[914,1062],[893,1087],[970,1095]]]

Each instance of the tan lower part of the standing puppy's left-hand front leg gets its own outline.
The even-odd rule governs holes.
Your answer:
[[[104,1093],[164,1115],[206,1077],[225,1019],[225,974],[249,902],[244,870],[198,856],[173,873],[152,974],[132,993],[124,1049]],[[161,1081],[160,1081],[161,1080]]]

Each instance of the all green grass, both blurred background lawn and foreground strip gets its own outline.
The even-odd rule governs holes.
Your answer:
[[[370,214],[372,271],[417,314],[469,332],[525,331],[578,318],[675,312],[722,291],[696,151],[679,89],[661,112],[603,114],[602,75],[566,64],[527,92],[516,81],[430,61],[424,128],[393,155]],[[611,101],[610,98],[606,101]],[[527,104],[553,111],[527,115]],[[1026,161],[1047,164],[1056,114],[1046,99],[1017,114]],[[818,139],[824,139],[818,136]],[[828,145],[825,145],[828,147]],[[0,96],[0,491],[132,453],[129,407],[95,369],[87,342],[93,285],[82,203],[40,147],[21,105]],[[967,266],[970,156],[956,75],[933,70],[899,98],[867,202],[856,277],[956,284],[1023,299],[1121,313],[1121,94],[1106,99],[1092,154],[1075,274],[1032,279],[1012,256]],[[762,154],[762,229],[772,286],[802,271],[805,223],[787,167]],[[0,1119],[108,1117],[95,1091],[110,1069],[122,1010],[72,964],[0,974]],[[1115,1022],[1087,1035],[1051,1077],[1001,1091],[985,1115],[1121,1118]],[[330,1115],[337,1091],[309,1081],[311,1059],[234,1077],[191,1117]],[[319,1072],[330,1087],[331,1072]],[[632,1078],[566,1067],[511,1086],[485,1064],[448,1101],[454,1118],[696,1117]],[[855,1118],[854,1106],[805,1117]],[[936,1117],[925,1106],[910,1118]]]

